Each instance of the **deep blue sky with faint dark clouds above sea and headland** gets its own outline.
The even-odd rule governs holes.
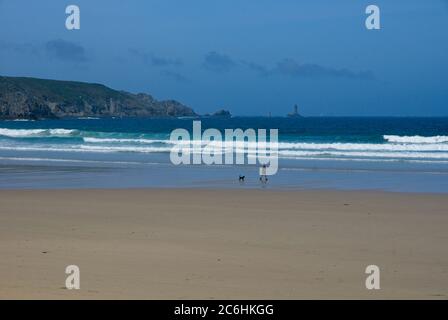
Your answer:
[[[80,30],[67,30],[77,5]],[[365,27],[380,8],[380,30]],[[198,113],[448,116],[448,0],[0,0],[0,75]]]

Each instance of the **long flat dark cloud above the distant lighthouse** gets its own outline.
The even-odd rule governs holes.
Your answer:
[[[283,59],[279,61],[275,68],[271,70],[271,73],[304,78],[333,77],[348,79],[373,79],[374,77],[371,71],[355,72],[346,68],[337,69],[318,64],[300,64],[293,59]]]

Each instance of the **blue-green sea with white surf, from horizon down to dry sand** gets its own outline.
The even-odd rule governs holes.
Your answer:
[[[257,164],[173,164],[171,132],[192,132],[198,120],[202,130],[215,128],[223,136],[225,129],[278,129],[278,172],[261,183]],[[448,118],[0,121],[0,189],[62,188],[448,193]]]

